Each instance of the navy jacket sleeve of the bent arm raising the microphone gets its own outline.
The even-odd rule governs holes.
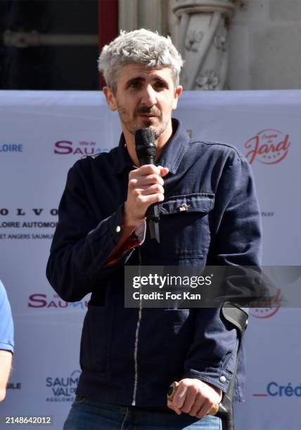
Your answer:
[[[46,275],[65,301],[79,301],[124,266],[133,249],[112,264],[108,258],[123,231],[123,204],[105,219],[96,219],[76,163],[68,172],[58,207]]]

